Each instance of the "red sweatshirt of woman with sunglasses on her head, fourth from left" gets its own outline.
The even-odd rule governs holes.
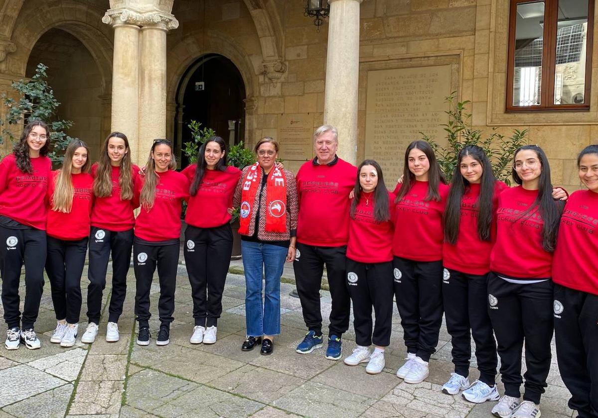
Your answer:
[[[189,180],[181,173],[169,170],[160,176],[155,190],[154,206],[145,210],[141,205],[135,220],[135,236],[145,241],[166,241],[181,236],[181,203],[189,197]],[[135,179],[135,196],[141,194],[145,176]]]

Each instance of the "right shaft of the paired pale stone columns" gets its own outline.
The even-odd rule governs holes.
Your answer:
[[[141,161],[147,158],[154,139],[166,138],[166,32],[163,24],[141,29],[138,142]]]

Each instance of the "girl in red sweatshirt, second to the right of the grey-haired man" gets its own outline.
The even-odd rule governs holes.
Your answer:
[[[442,219],[449,186],[434,150],[425,141],[407,147],[403,179],[395,189],[392,254],[407,362],[396,376],[419,383],[428,377],[428,361],[438,344],[443,319]]]

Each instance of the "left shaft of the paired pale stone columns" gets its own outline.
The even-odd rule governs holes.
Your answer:
[[[111,131],[124,133],[129,139],[131,158],[138,162],[139,137],[139,30],[126,23],[126,16],[104,16],[104,23],[114,27],[112,59]]]

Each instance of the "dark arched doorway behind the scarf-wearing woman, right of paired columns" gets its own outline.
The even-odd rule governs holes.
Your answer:
[[[176,93],[175,152],[186,167],[181,148],[191,140],[188,125],[212,128],[228,145],[245,139],[245,83],[239,69],[219,54],[200,57],[185,71]]]

